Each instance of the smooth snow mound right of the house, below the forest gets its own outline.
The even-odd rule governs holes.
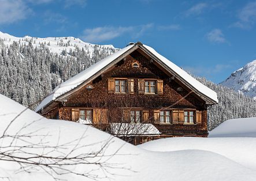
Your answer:
[[[209,137],[256,137],[256,118],[226,120],[210,131]]]

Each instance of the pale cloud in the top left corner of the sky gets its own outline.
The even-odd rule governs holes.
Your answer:
[[[31,10],[21,0],[0,0],[0,24],[25,19]]]

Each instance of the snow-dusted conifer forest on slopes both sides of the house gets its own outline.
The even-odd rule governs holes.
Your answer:
[[[114,51],[95,45],[91,57],[86,47],[64,50],[58,55],[50,52],[43,43],[33,47],[32,42],[13,42],[6,47],[0,40],[0,93],[34,110],[55,86]],[[255,100],[205,78],[195,78],[218,95],[219,103],[208,109],[209,130],[227,119],[256,116]]]

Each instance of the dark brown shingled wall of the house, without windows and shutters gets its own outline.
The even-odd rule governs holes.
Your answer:
[[[139,67],[132,67],[132,63],[137,62]],[[166,135],[207,135],[207,108],[205,101],[200,99],[195,93],[190,93],[170,77],[165,74],[154,63],[142,56],[138,51],[128,55],[123,61],[117,63],[106,73],[90,82],[94,89],[88,90],[86,86],[68,97],[67,101],[60,108],[60,119],[71,120],[71,108],[107,108],[109,118],[118,115],[118,108],[131,107],[149,110],[149,118],[154,117],[153,111],[163,107],[169,108],[193,108],[202,111],[201,125],[158,125],[155,126],[161,133]],[[107,78],[133,78],[134,93],[108,93]],[[138,79],[154,78],[164,81],[162,95],[141,95],[138,93]],[[177,91],[182,88],[182,91]],[[185,97],[185,98],[184,98]],[[113,111],[117,110],[116,114]],[[112,111],[112,112],[111,112]]]

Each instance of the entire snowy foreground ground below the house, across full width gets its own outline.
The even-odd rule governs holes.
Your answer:
[[[2,103],[0,104],[1,137],[10,121],[25,107],[2,95],[0,101]],[[50,155],[55,157],[66,155],[75,145],[81,148],[72,155],[86,154],[99,150],[105,141],[111,138],[109,134],[93,127],[64,120],[46,119],[31,110],[25,110],[18,116],[6,132],[9,135],[16,134],[20,127],[34,120],[36,120],[34,123],[18,133],[28,134],[37,130],[36,134],[40,135],[39,137],[28,137],[25,141],[34,144],[40,142],[44,148],[26,149],[30,153],[48,154],[47,146],[64,144],[65,148],[57,148]],[[70,143],[65,144],[68,142]],[[17,163],[2,160],[5,158],[1,154],[5,150],[3,146],[9,144],[9,139],[1,138],[0,143],[1,177],[6,177],[6,180],[53,180],[42,169],[36,170],[35,167],[31,172],[17,172],[20,168]],[[93,164],[67,165],[65,168],[79,173],[91,171],[90,174],[99,177],[107,175],[113,180],[255,180],[254,143],[254,138],[209,138],[209,141],[207,138],[168,138],[133,146],[113,138],[103,153],[105,156],[102,160],[98,160],[106,163],[105,171],[108,172],[97,169],[98,165]],[[24,141],[15,143],[15,145],[26,144],[28,143]],[[84,147],[84,145],[88,146]],[[112,154],[114,156],[107,156]],[[24,153],[16,155],[24,156]],[[251,157],[251,160],[248,157]],[[88,161],[95,161],[95,158]],[[72,174],[58,177],[65,180],[90,180]],[[109,178],[98,180],[109,180]]]

